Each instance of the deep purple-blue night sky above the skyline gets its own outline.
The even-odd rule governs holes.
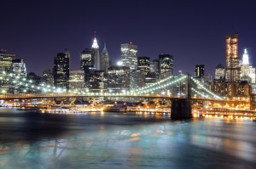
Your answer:
[[[120,44],[133,42],[138,56],[172,54],[176,74],[194,73],[196,64],[204,64],[212,75],[216,65],[225,65],[225,36],[238,31],[240,56],[247,48],[256,66],[253,0],[1,0],[0,6],[0,48],[25,59],[27,71],[39,76],[65,48],[71,69],[78,70],[79,55],[91,47],[95,31],[100,52],[106,42],[113,63]]]

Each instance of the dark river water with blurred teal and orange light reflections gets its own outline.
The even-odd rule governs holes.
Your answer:
[[[256,121],[0,109],[0,168],[256,168]]]

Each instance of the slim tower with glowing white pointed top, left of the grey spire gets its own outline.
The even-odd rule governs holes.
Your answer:
[[[93,40],[93,43],[91,45],[92,49],[92,65],[95,66],[96,70],[101,70],[101,58],[100,58],[100,52],[99,52],[99,45],[96,40],[96,37]]]

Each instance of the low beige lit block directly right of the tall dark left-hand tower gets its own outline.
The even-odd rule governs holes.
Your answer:
[[[84,70],[69,71],[69,88],[70,89],[84,88]]]

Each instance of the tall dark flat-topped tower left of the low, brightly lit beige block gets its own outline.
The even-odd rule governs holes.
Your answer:
[[[54,59],[54,84],[55,87],[66,87],[69,84],[69,56],[65,53],[59,53]]]

